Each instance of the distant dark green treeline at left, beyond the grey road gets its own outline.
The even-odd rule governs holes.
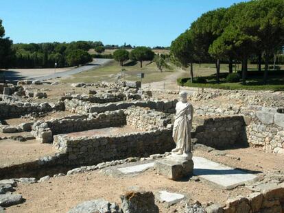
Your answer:
[[[53,68],[78,66],[91,61],[88,50],[102,47],[102,42],[77,41],[14,44],[12,68]]]

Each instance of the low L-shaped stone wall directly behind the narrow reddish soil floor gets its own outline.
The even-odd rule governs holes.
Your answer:
[[[32,134],[40,142],[52,142],[53,136],[70,132],[119,127],[131,125],[137,129],[149,130],[165,127],[171,122],[169,115],[155,110],[130,107],[127,110],[116,110],[104,113],[89,113],[52,119],[51,121],[36,121],[32,125]]]

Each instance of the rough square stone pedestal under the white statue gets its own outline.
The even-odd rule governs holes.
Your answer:
[[[174,180],[188,177],[193,173],[191,158],[178,158],[170,155],[165,159],[156,160],[154,167],[158,174]]]

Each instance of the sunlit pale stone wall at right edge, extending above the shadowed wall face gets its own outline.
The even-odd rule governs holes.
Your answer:
[[[284,114],[282,108],[265,108],[259,105],[195,105],[198,116],[244,116],[246,138],[251,146],[265,151],[284,154]],[[208,138],[210,141],[210,139]],[[213,139],[217,140],[217,139]]]

